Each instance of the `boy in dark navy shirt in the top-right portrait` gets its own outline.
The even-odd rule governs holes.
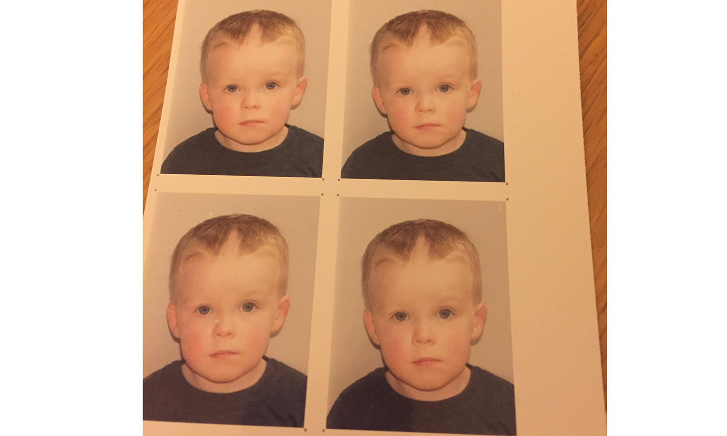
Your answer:
[[[462,20],[433,10],[394,17],[371,41],[371,76],[391,132],[354,150],[342,177],[505,182],[502,142],[464,128],[481,81]]]

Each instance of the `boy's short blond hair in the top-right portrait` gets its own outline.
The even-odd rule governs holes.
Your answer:
[[[397,43],[411,47],[422,26],[430,31],[430,42],[442,44],[452,37],[463,39],[470,54],[470,74],[472,78],[477,77],[477,41],[465,22],[447,12],[421,10],[393,17],[374,35],[371,40],[371,77],[374,78],[374,85],[379,84],[376,67],[381,52]]]

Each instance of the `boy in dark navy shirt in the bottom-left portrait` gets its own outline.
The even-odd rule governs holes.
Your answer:
[[[144,379],[143,418],[302,427],[306,376],[264,355],[287,280],[288,246],[265,219],[216,217],[182,236],[166,309],[182,360]]]

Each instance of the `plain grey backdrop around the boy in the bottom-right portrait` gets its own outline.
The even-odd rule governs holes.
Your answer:
[[[470,351],[470,363],[513,382],[504,201],[341,198],[339,217],[329,409],[343,389],[383,366],[381,353],[364,328],[361,256],[377,233],[409,219],[447,222],[474,243],[480,254],[487,318]]]

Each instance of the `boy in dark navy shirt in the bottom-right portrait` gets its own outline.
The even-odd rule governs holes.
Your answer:
[[[487,314],[467,235],[401,222],[369,243],[361,270],[364,325],[385,367],[341,393],[327,427],[515,435],[513,384],[467,363]]]

